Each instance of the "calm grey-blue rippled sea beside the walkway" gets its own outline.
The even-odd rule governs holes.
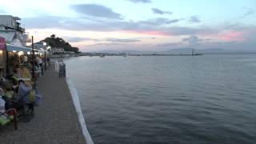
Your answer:
[[[95,144],[256,143],[256,54],[66,60]]]

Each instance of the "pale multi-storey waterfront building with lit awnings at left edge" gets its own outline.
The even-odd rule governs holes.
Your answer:
[[[21,18],[11,15],[0,15],[0,70],[3,73],[10,66],[9,57],[15,54],[21,56],[31,51],[31,48],[26,47],[26,42],[30,42],[30,39],[25,29],[20,26],[20,20]]]

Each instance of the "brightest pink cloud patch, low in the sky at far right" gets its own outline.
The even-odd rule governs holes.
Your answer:
[[[240,31],[229,31],[218,35],[225,42],[243,42],[245,40],[244,33]]]

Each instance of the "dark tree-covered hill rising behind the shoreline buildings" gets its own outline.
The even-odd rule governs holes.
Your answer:
[[[48,46],[63,48],[65,51],[74,51],[75,53],[78,53],[79,51],[78,47],[71,46],[69,42],[56,37],[55,34],[50,35],[50,37],[45,38],[43,41],[46,42]]]

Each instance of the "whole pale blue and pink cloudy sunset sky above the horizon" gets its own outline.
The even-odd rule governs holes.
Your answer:
[[[255,0],[0,0],[35,41],[81,51],[256,50]]]

